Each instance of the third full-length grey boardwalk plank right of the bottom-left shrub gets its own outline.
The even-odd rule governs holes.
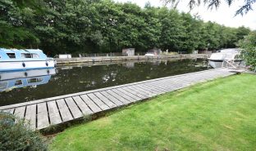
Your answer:
[[[64,99],[56,100],[58,109],[62,116],[62,122],[71,121],[73,119]]]

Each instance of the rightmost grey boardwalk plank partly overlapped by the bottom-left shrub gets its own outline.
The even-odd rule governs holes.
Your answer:
[[[36,128],[36,104],[30,104],[26,107],[25,119],[29,121],[30,128]]]

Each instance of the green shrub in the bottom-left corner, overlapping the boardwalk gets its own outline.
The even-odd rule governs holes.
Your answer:
[[[0,150],[48,150],[46,140],[28,123],[10,113],[0,111]]]

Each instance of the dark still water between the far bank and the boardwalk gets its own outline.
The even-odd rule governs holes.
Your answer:
[[[203,66],[203,60],[155,60],[151,62],[58,67],[54,75],[50,75],[52,71],[43,71],[39,74],[47,74],[47,76],[40,77],[36,74],[35,78],[30,79],[27,77],[30,77],[33,73],[22,73],[26,74],[26,78],[22,78],[23,81],[26,80],[24,82],[20,78],[0,81],[0,84],[2,82],[0,106],[205,69],[207,67]],[[3,78],[3,75],[1,77]],[[17,86],[21,83],[23,83],[23,86],[21,84],[19,87],[3,88],[7,85],[3,82],[13,81]],[[27,85],[25,85],[25,82],[28,82]]]

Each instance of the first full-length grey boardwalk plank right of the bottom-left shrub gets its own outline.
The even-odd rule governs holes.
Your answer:
[[[48,111],[46,103],[37,104],[38,113],[37,113],[37,129],[43,129],[50,126],[48,119]]]

